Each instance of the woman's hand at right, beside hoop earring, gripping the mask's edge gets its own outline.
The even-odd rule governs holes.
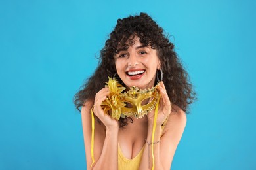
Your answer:
[[[160,86],[158,86],[158,90],[161,94],[160,102],[158,104],[158,118],[156,120],[156,126],[161,126],[163,122],[166,120],[166,118],[171,113],[171,101],[168,97],[168,94],[165,89],[165,85],[163,82],[160,82]],[[148,124],[153,125],[154,123],[154,114],[155,110],[152,110],[148,114]]]

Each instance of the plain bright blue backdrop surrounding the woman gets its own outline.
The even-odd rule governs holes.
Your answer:
[[[72,97],[117,18],[173,35],[198,101],[172,169],[256,169],[255,1],[1,1],[0,169],[85,169]]]

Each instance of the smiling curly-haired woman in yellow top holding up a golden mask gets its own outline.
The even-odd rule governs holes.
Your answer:
[[[94,75],[75,95],[77,109],[82,107],[87,169],[171,168],[186,126],[185,112],[194,99],[188,75],[173,48],[148,14],[117,20]],[[125,106],[117,108],[121,116],[113,118],[112,110],[104,110],[102,104],[110,100],[110,86],[104,84],[109,77],[129,95],[131,87],[152,89],[154,94],[137,91],[144,97],[139,104],[133,97],[131,102],[119,98]],[[137,115],[123,114],[124,109],[137,110]]]

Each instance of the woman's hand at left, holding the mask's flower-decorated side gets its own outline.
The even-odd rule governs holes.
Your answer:
[[[95,95],[95,104],[93,107],[94,114],[100,119],[100,121],[106,126],[106,129],[118,129],[119,123],[116,119],[112,118],[108,114],[105,114],[101,104],[108,97],[108,87],[102,88]]]

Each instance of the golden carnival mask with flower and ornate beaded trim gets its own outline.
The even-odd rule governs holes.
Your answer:
[[[158,84],[145,90],[132,86],[129,91],[124,93],[121,92],[125,90],[125,87],[114,78],[109,78],[106,84],[110,93],[108,98],[102,102],[102,109],[116,120],[119,120],[120,117],[125,118],[125,116],[142,118],[155,109],[156,103],[160,98]],[[151,101],[146,105],[142,105],[142,102],[146,99],[151,99]],[[127,107],[127,105],[131,107]]]

